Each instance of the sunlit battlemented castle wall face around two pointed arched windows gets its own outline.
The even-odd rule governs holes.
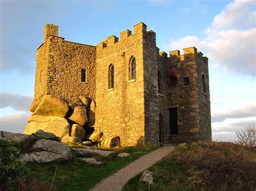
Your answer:
[[[144,65],[145,25],[134,26],[134,34],[126,30],[106,38],[97,45],[96,124],[104,136],[120,136],[122,146],[144,141]],[[129,80],[131,57],[136,59],[136,79]],[[109,66],[114,66],[114,87],[108,87]]]

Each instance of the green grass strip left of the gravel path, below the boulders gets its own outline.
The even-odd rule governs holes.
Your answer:
[[[68,162],[30,163],[30,174],[23,177],[16,190],[50,190],[52,182],[51,190],[89,190],[100,180],[155,149],[150,145],[113,148],[111,151],[116,152],[114,155],[93,156],[97,161],[103,162],[101,165],[87,164],[79,160],[75,153],[72,153],[73,159]],[[117,155],[121,152],[130,153],[131,157],[119,158]]]

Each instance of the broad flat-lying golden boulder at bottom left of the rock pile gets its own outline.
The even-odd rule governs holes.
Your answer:
[[[24,134],[36,133],[41,129],[45,132],[53,133],[61,140],[64,136],[69,136],[70,124],[63,117],[32,115],[28,119]]]

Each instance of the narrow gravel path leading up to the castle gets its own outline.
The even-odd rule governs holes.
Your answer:
[[[165,146],[158,148],[149,154],[134,160],[130,165],[120,169],[116,173],[100,181],[91,191],[119,191],[124,185],[138,173],[151,167],[160,159],[174,150],[174,146]]]

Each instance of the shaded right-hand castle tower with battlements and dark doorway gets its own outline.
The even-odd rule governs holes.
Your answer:
[[[184,55],[161,52],[158,71],[163,93],[158,96],[163,115],[164,142],[188,143],[211,140],[208,59],[197,48],[184,48]]]

